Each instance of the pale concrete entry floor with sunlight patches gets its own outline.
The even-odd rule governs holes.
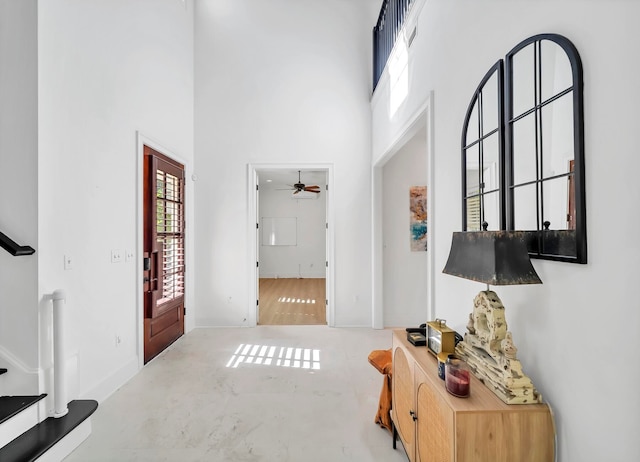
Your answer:
[[[406,462],[374,423],[389,330],[196,329],[100,404],[66,462]]]

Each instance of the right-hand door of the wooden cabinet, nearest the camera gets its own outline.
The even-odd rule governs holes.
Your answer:
[[[416,372],[416,376],[417,376]],[[453,462],[453,411],[434,393],[428,381],[418,382],[416,460],[420,462]],[[444,383],[442,385],[444,387]]]

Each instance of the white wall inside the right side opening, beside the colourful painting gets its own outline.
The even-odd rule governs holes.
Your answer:
[[[418,326],[428,321],[427,253],[411,251],[409,230],[409,188],[427,184],[426,142],[423,128],[383,169],[385,326]]]

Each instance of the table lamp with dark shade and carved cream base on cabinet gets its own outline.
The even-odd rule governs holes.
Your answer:
[[[464,340],[456,346],[473,374],[507,404],[541,403],[516,359],[504,305],[490,285],[541,284],[520,231],[454,232],[443,273],[487,284],[474,299]]]

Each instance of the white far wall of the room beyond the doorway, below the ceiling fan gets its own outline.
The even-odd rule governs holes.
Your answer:
[[[261,278],[324,278],[326,259],[326,193],[315,199],[291,199],[291,191],[260,190],[260,226],[263,218],[295,218],[295,245],[260,242]],[[262,234],[262,233],[261,233]]]

